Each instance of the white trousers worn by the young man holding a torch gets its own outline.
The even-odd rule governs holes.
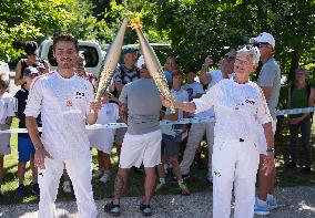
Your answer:
[[[95,218],[98,215],[92,191],[91,158],[78,159],[44,159],[45,169],[39,170],[40,203],[39,218],[55,216],[54,201],[57,198],[60,177],[65,164],[71,178],[80,218]]]

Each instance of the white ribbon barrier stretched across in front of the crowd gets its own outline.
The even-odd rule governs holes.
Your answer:
[[[315,112],[315,107],[305,107],[305,108],[293,108],[293,110],[282,110],[277,111],[276,115],[282,116],[286,114],[303,114],[303,113],[311,113]],[[204,117],[191,117],[191,118],[181,118],[177,121],[161,121],[160,125],[174,125],[174,124],[190,124],[190,123],[206,123],[206,122],[215,122],[214,117],[204,116]],[[125,128],[128,127],[125,123],[108,123],[108,124],[94,124],[94,125],[87,125],[87,129],[100,129],[100,128]],[[42,128],[39,127],[39,132],[42,132]],[[27,128],[14,128],[14,129],[7,129],[0,131],[0,133],[28,133]]]

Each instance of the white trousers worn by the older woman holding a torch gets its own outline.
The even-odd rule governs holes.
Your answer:
[[[254,142],[217,139],[213,147],[213,218],[230,218],[234,183],[235,218],[254,217],[260,154]]]

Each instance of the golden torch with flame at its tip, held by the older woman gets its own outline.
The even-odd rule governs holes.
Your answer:
[[[135,32],[136,32],[146,68],[150,72],[151,76],[153,77],[153,81],[154,81],[156,87],[159,89],[159,91],[163,95],[163,97],[165,97],[166,100],[170,100],[171,93],[170,93],[167,82],[166,82],[164,72],[162,70],[161,63],[160,63],[154,50],[152,49],[152,46],[149,44],[148,40],[143,35],[143,33],[141,31],[140,21],[132,21],[130,23],[130,27],[133,30],[135,30]],[[171,112],[175,113],[175,107],[173,105],[173,102],[171,101],[171,103],[172,103]]]

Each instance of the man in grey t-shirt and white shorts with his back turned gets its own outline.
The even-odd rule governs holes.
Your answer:
[[[130,168],[145,169],[145,197],[140,209],[148,216],[152,214],[151,198],[155,186],[155,166],[161,163],[160,110],[162,102],[159,90],[145,63],[141,64],[141,79],[124,85],[119,97],[122,111],[128,111],[128,131],[123,138],[120,165],[114,184],[114,198],[105,205],[105,211],[120,215],[120,199],[129,177]]]

